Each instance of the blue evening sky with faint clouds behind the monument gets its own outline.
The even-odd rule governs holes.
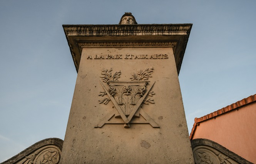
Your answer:
[[[64,139],[77,73],[63,24],[193,23],[179,74],[189,133],[256,93],[255,0],[1,0],[0,162]],[[239,120],[238,120],[239,121]]]

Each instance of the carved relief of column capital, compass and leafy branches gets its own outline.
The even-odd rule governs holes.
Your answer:
[[[112,69],[102,69],[102,76],[100,77],[102,81],[100,81],[100,84],[104,91],[99,94],[102,97],[99,103],[107,105],[111,101],[114,104],[114,112],[112,111],[102,118],[95,128],[101,128],[104,124],[120,123],[124,123],[124,128],[129,128],[132,123],[148,123],[154,128],[159,128],[157,123],[142,109],[142,103],[146,105],[154,103],[154,100],[147,98],[147,96],[152,97],[155,94],[151,91],[155,82],[148,81],[152,77],[152,72],[153,68],[147,68],[144,71],[139,70],[137,73],[132,74],[131,81],[118,81],[121,71],[112,75]],[[106,84],[107,86],[105,86]],[[144,120],[134,119],[141,116]]]

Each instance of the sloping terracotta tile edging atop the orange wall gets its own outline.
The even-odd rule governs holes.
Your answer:
[[[231,105],[228,105],[227,107],[224,107],[224,108],[221,108],[215,112],[212,112],[208,115],[205,115],[205,116],[202,116],[200,118],[195,118],[195,123],[193,125],[193,128],[191,130],[191,133],[189,135],[189,138],[191,139],[192,136],[194,135],[194,131],[196,130],[196,126],[198,126],[200,124],[200,122],[202,121],[206,121],[206,120],[209,120],[210,118],[214,118],[216,116],[219,116],[223,113],[226,113],[226,112],[229,112],[231,110],[234,110],[234,109],[237,109],[243,105],[246,105],[246,104],[249,104],[249,103],[252,103],[252,102],[255,102],[256,101],[256,94],[255,95],[251,95],[247,98],[244,98],[243,100],[240,100],[238,102],[235,102]]]

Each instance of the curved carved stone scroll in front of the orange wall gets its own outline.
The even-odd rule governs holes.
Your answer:
[[[209,139],[191,140],[196,164],[253,164]]]

